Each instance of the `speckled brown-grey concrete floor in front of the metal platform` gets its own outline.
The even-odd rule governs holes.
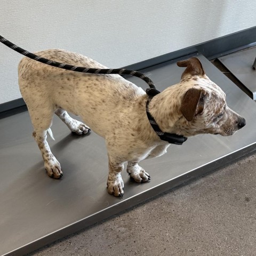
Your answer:
[[[30,256],[254,256],[256,154],[224,166]]]

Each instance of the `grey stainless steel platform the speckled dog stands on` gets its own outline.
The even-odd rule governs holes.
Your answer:
[[[123,172],[123,199],[107,193],[107,151],[98,135],[73,135],[54,117],[56,140],[49,142],[64,172],[55,180],[44,170],[28,113],[0,120],[0,255],[35,250],[255,150],[254,101],[202,55],[197,57],[226,92],[229,106],[246,118],[246,126],[232,137],[198,135],[183,146],[171,145],[162,157],[141,162],[151,175],[148,183],[132,182]],[[179,82],[183,68],[165,62],[142,71],[163,90]],[[129,79],[147,87],[138,78]]]

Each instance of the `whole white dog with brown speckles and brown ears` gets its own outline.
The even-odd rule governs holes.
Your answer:
[[[46,50],[37,55],[75,66],[104,69],[105,66],[81,54],[66,50]],[[178,61],[186,67],[181,81],[155,95],[148,110],[163,132],[190,137],[202,133],[229,136],[245,125],[245,119],[231,110],[226,95],[205,74],[201,62],[193,57]],[[106,140],[109,174],[107,190],[123,196],[121,172],[136,182],[150,180],[138,165],[143,159],[162,156],[169,143],[161,140],[146,115],[148,95],[141,87],[120,75],[77,73],[23,58],[18,67],[19,87],[25,100],[33,137],[41,150],[47,174],[62,176],[60,163],[46,141],[54,113],[77,134],[90,128]],[[85,123],[71,118],[80,116]]]

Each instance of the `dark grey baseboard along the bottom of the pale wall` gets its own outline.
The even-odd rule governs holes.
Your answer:
[[[256,45],[256,26],[238,31],[230,35],[222,36],[211,41],[190,46],[185,49],[167,53],[156,58],[134,63],[133,65],[129,65],[124,68],[131,70],[141,70],[166,61],[178,59],[180,57],[195,52],[199,52],[203,54],[204,57],[211,60],[222,55],[243,50],[254,45]],[[0,104],[0,118],[6,115],[12,115],[13,113],[17,113],[17,111],[19,111],[19,108],[21,108],[21,111],[24,111],[24,109],[26,109],[25,106],[25,101],[22,98],[2,103]],[[12,113],[10,112],[9,114],[7,114],[6,111],[10,110],[14,110],[14,112],[12,111]]]

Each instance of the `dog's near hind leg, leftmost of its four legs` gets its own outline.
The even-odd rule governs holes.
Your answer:
[[[47,174],[55,179],[62,176],[60,163],[52,154],[49,144],[46,141],[46,132],[52,125],[54,110],[40,108],[39,110],[29,110],[29,115],[34,126],[33,137],[41,150],[44,167]]]

